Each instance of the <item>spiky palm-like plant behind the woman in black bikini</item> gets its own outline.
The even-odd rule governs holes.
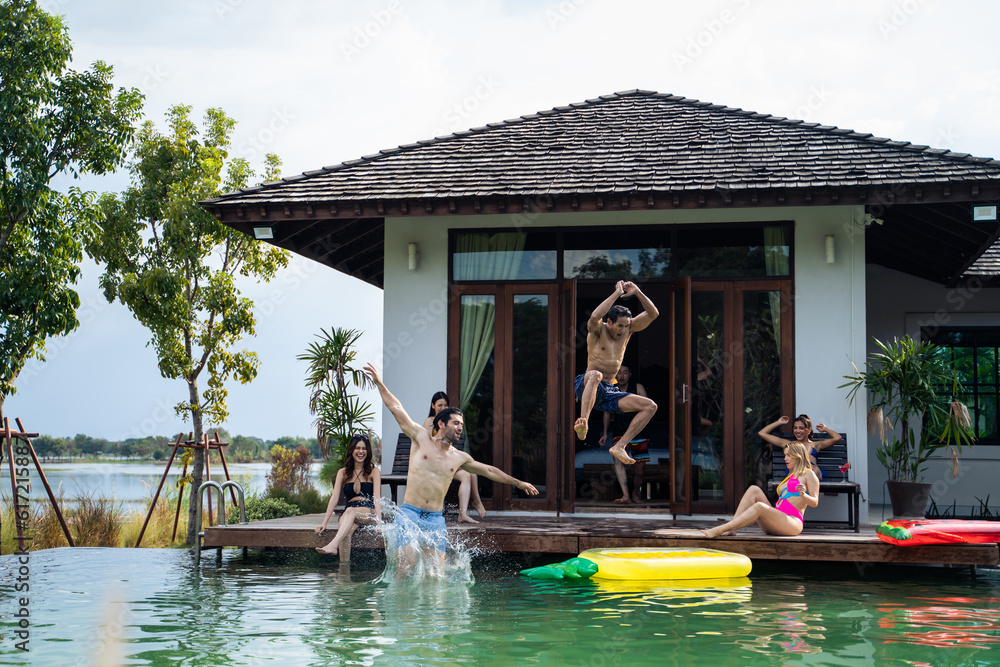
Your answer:
[[[320,330],[318,343],[311,343],[299,361],[309,364],[306,386],[309,412],[316,415],[316,439],[323,458],[333,460],[337,467],[343,465],[347,443],[355,433],[371,433],[370,423],[375,418],[371,405],[351,393],[352,387],[365,389],[374,386],[365,373],[354,368],[357,352],[352,346],[361,337],[355,329],[336,328],[331,332]]]

